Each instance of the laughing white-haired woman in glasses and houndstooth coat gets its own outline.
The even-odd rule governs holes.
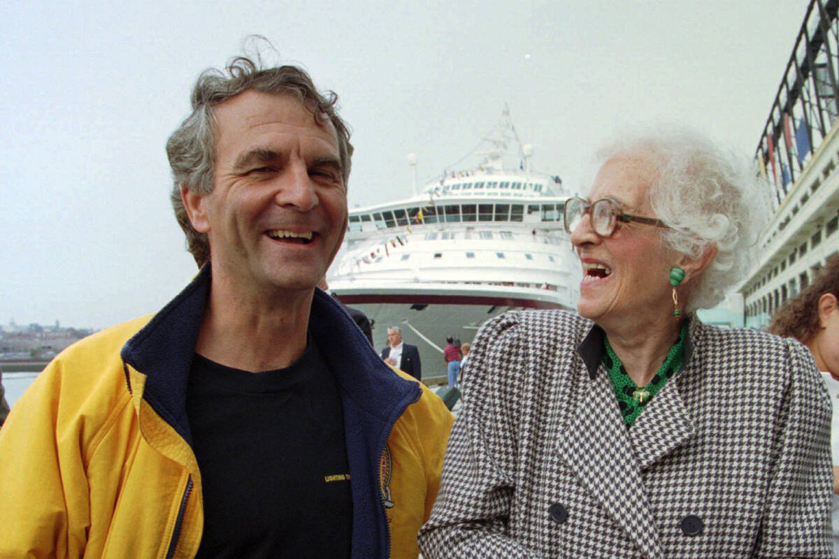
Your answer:
[[[602,162],[565,204],[581,316],[505,313],[472,344],[425,559],[830,557],[807,349],[695,315],[756,251],[757,179],[684,131]]]

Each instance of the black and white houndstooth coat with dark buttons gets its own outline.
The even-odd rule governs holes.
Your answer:
[[[628,429],[599,327],[562,311],[487,323],[425,559],[832,557],[831,408],[809,353],[696,319],[689,332],[685,366]]]

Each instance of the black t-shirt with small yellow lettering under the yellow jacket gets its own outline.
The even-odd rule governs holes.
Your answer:
[[[311,339],[293,365],[261,373],[196,354],[186,410],[204,497],[198,557],[350,556],[341,400]]]

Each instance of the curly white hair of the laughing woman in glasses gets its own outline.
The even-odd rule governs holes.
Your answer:
[[[717,246],[685,310],[722,303],[752,266],[769,219],[769,185],[758,179],[755,163],[685,127],[624,133],[597,152],[601,163],[621,157],[652,164],[657,179],[649,198],[668,226],[659,230],[666,246],[692,258]]]

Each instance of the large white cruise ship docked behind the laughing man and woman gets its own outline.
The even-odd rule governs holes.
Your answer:
[[[397,326],[420,349],[423,375],[443,375],[447,336],[471,342],[512,308],[576,307],[579,265],[562,225],[570,194],[559,175],[531,169],[531,155],[505,107],[471,166],[350,211],[327,281],[373,321],[377,349]]]

